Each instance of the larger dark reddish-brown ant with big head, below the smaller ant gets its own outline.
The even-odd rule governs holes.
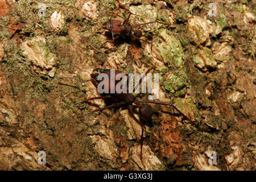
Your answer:
[[[146,72],[146,74],[150,71],[151,69],[148,69],[148,71]],[[90,112],[89,114],[92,114],[96,111],[102,111],[105,109],[110,109],[110,108],[114,108],[114,107],[118,107],[118,106],[127,106],[127,109],[129,111],[129,114],[131,115],[131,117],[133,117],[133,119],[142,127],[142,134],[141,134],[141,160],[142,160],[142,145],[143,145],[143,132],[144,132],[144,127],[145,125],[150,126],[151,124],[151,117],[153,114],[152,111],[152,107],[150,105],[148,105],[148,103],[152,103],[152,104],[159,104],[159,105],[167,105],[167,106],[172,106],[174,107],[174,109],[176,111],[179,112],[179,114],[181,114],[183,116],[184,119],[187,119],[190,121],[190,119],[188,117],[186,117],[183,113],[181,113],[181,111],[179,109],[177,109],[177,107],[175,107],[173,104],[168,103],[168,102],[161,102],[161,101],[152,101],[152,100],[142,100],[142,101],[138,101],[137,98],[135,98],[135,96],[131,93],[112,93],[110,89],[111,88],[111,84],[110,82],[114,83],[114,88],[115,86],[118,84],[118,82],[122,81],[122,78],[119,77],[119,73],[121,73],[118,70],[114,70],[114,76],[112,78],[114,78],[115,80],[111,80],[111,79],[107,79],[104,80],[104,78],[102,78],[100,76],[100,73],[105,73],[106,75],[108,75],[108,78],[111,78],[110,76],[110,69],[101,69],[101,68],[97,68],[93,70],[93,73],[90,75],[91,79],[90,80],[85,80],[85,81],[81,81],[81,82],[87,82],[87,81],[91,81],[93,83],[94,86],[96,86],[96,88],[98,87],[98,84],[100,82],[106,82],[108,81],[108,93],[102,93],[100,97],[93,97],[93,98],[89,98],[86,101],[90,101],[90,100],[96,100],[96,99],[104,99],[104,100],[111,100],[112,102],[114,102],[112,105],[109,106],[105,106],[102,107],[100,109],[96,109],[93,110],[92,112]],[[72,77],[63,77],[63,78],[72,78]],[[73,78],[76,79],[76,78]],[[139,83],[137,86],[141,85],[143,78],[140,78]],[[107,83],[106,83],[107,84]],[[105,85],[105,84],[104,84]],[[137,88],[137,86],[135,86],[134,90]],[[139,119],[137,119],[134,115],[134,109],[139,108]],[[86,114],[86,115],[89,115]]]

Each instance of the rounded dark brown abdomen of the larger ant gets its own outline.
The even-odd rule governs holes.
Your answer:
[[[139,117],[144,125],[151,124],[151,117],[153,114],[152,107],[148,104],[139,104]]]

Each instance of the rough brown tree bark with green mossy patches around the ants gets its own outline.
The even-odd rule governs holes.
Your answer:
[[[128,15],[117,1],[0,0],[0,169],[255,170],[255,0],[120,3],[131,25],[166,24],[139,27],[146,42],[122,35],[100,47],[112,39],[102,24]],[[86,115],[109,103],[85,102],[99,96],[93,84],[61,78],[88,80],[103,52],[123,73],[154,65],[159,100],[191,118],[152,105],[142,161],[127,108]]]

